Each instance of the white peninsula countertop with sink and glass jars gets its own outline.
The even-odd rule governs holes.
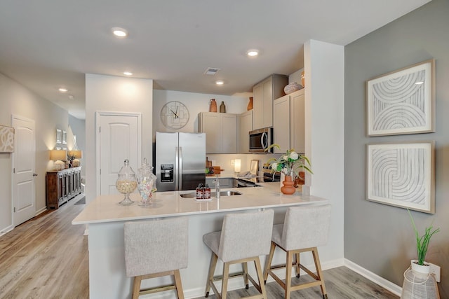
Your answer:
[[[130,206],[119,204],[123,199],[122,194],[100,195],[93,202],[87,204],[86,208],[74,218],[72,224],[106,223],[327,202],[321,197],[302,196],[298,191],[294,195],[283,195],[279,191],[279,182],[259,183],[259,185],[262,187],[222,189],[222,191],[236,190],[242,194],[222,196],[220,200],[213,198],[209,202],[199,202],[194,198],[180,196],[183,193],[194,193],[194,190],[156,192],[153,193],[154,203],[149,207],[138,205],[140,202],[138,193],[130,195],[131,200],[135,201]]]

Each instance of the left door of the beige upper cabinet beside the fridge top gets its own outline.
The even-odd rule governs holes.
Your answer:
[[[200,113],[199,132],[206,133],[206,153],[220,153],[220,113]]]

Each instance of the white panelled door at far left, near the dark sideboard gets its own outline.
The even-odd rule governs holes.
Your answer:
[[[36,214],[36,133],[34,120],[12,117],[13,153],[13,224],[24,223]]]

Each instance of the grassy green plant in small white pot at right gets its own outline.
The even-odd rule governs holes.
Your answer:
[[[418,232],[415,221],[413,220],[412,214],[410,210],[407,209],[408,216],[410,216],[410,220],[412,221],[413,230],[415,231],[416,237],[416,251],[417,251],[417,260],[411,260],[411,267],[413,272],[419,272],[422,274],[429,274],[430,267],[429,264],[426,263],[426,254],[427,249],[429,249],[430,238],[436,234],[436,232],[440,231],[440,228],[435,228],[433,225],[430,225],[428,228],[424,230],[424,235],[420,236],[420,232]]]

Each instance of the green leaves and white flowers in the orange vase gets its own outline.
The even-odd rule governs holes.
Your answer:
[[[272,147],[279,148],[279,145],[272,144],[272,146],[266,148],[265,151],[268,151]],[[311,165],[309,158],[300,153],[296,153],[294,149],[288,150],[285,155],[281,155],[279,159],[271,158],[268,162],[272,166],[272,172],[283,172],[286,176],[299,176],[301,169],[313,174],[310,169]]]

